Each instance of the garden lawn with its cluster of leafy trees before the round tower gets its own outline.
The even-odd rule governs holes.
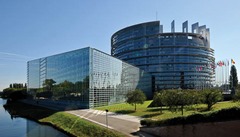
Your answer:
[[[196,96],[193,97],[192,95]],[[134,105],[130,105],[128,103],[98,107],[95,109],[108,109],[110,112],[118,114],[139,116],[144,118],[144,120],[141,121],[143,125],[156,125],[152,123],[155,121],[158,124],[164,123],[164,121],[169,121],[171,119],[177,119],[175,121],[179,121],[179,124],[185,123],[184,121],[188,121],[186,123],[190,123],[192,121],[208,122],[211,120],[226,120],[234,115],[228,113],[240,112],[239,106],[240,103],[238,100],[222,101],[221,93],[216,89],[212,89],[200,92],[168,90],[165,93],[156,93],[154,100],[148,100],[143,104],[137,104],[136,110]],[[236,119],[236,117],[234,117],[234,119]],[[149,121],[151,124],[149,124]],[[173,123],[177,124],[176,122]]]

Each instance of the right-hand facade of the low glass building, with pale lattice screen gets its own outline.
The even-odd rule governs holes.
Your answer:
[[[151,75],[101,51],[91,52],[90,106],[124,102],[127,92],[141,89],[152,96]]]

